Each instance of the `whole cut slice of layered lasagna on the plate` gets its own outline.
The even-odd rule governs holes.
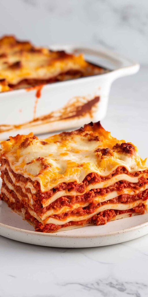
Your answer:
[[[47,139],[1,142],[1,198],[34,225],[56,232],[147,211],[148,168],[132,143],[99,122]]]

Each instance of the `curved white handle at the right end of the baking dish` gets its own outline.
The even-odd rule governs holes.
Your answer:
[[[118,53],[115,53],[112,50],[109,50],[106,48],[100,48],[98,46],[85,47],[84,45],[83,46],[53,45],[53,46],[50,46],[50,48],[53,50],[65,50],[70,53],[75,53],[75,54],[83,53],[84,55],[92,56],[94,58],[93,63],[95,63],[95,56],[96,56],[96,60],[97,58],[101,59],[101,64],[103,64],[103,61],[105,61],[106,68],[113,69],[112,72],[110,72],[110,78],[112,81],[122,76],[134,74],[138,72],[140,68],[140,65],[138,63],[131,61],[130,59]],[[91,62],[90,59],[89,61]],[[107,66],[107,63],[110,66]],[[96,65],[97,65],[97,61],[96,61]]]

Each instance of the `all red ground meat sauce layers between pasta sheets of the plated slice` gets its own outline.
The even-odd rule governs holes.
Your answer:
[[[4,162],[5,163],[5,162]],[[11,170],[11,169],[10,169]],[[12,170],[11,170],[12,174],[15,176],[15,178],[17,179],[17,181],[22,181],[24,183],[28,182],[28,178],[24,178],[23,176],[21,176],[20,174],[15,174]],[[145,170],[145,172],[147,172],[147,170]],[[113,176],[114,174],[121,174],[121,173],[126,173],[126,169],[125,168],[117,168],[117,170],[114,171],[114,173],[112,173],[110,175]],[[141,172],[140,172],[141,173]],[[138,176],[139,173],[134,173],[133,176]],[[4,177],[4,175],[7,177],[7,180],[9,181],[10,184],[13,184],[13,181],[11,180],[9,173],[7,171],[7,169],[4,170],[4,172],[1,173],[2,178]],[[108,176],[109,177],[109,176]],[[109,178],[110,178],[109,177]],[[66,188],[68,189],[79,189],[79,191],[83,192],[84,189],[89,185],[90,181],[91,183],[96,183],[98,181],[102,181],[102,177],[98,176],[96,173],[91,173],[88,176],[86,176],[86,178],[84,179],[84,181],[81,184],[77,184],[75,182],[73,183],[69,183],[69,184],[61,184],[59,185],[57,188],[60,189],[60,187],[65,188],[65,186],[67,186]],[[31,181],[32,182],[32,181]],[[129,183],[127,181],[119,181],[117,183],[115,183],[112,186],[109,186],[107,188],[102,188],[102,189],[93,189],[90,190],[89,192],[87,192],[84,195],[81,196],[66,196],[66,197],[60,197],[59,199],[57,199],[54,203],[52,203],[49,208],[42,208],[41,205],[41,198],[42,195],[40,194],[40,192],[37,192],[36,195],[33,195],[33,199],[35,200],[35,204],[34,204],[34,210],[37,213],[40,212],[45,212],[50,208],[61,208],[62,206],[72,206],[75,203],[80,203],[80,202],[88,202],[89,206],[86,207],[79,207],[77,209],[74,209],[73,211],[69,211],[65,214],[60,214],[60,215],[54,215],[52,217],[57,218],[57,219],[65,219],[66,217],[68,217],[69,215],[73,215],[73,216],[80,216],[80,215],[85,215],[85,214],[93,214],[93,212],[95,211],[95,209],[98,206],[104,205],[104,204],[108,204],[108,203],[130,203],[132,201],[136,201],[139,199],[147,200],[148,198],[148,190],[145,190],[143,192],[140,192],[137,195],[127,195],[127,194],[123,194],[123,195],[119,195],[118,197],[111,199],[111,200],[107,200],[104,201],[102,203],[96,203],[95,201],[93,201],[94,197],[97,195],[105,195],[111,191],[117,190],[117,191],[122,191],[124,188],[126,187],[130,187],[132,189],[139,189],[139,187],[143,186],[144,184],[146,184],[148,182],[147,178],[141,177],[139,178],[139,182],[138,183]],[[33,224],[35,225],[35,229],[36,231],[40,231],[40,232],[55,232],[57,230],[59,230],[62,227],[68,227],[68,226],[73,226],[73,225],[85,225],[87,223],[89,224],[95,224],[95,225],[102,225],[102,224],[106,224],[108,221],[110,221],[112,218],[114,218],[117,214],[123,214],[123,213],[128,213],[128,212],[135,212],[135,213],[140,213],[143,214],[145,211],[145,205],[140,203],[139,206],[136,206],[135,208],[131,209],[131,210],[127,210],[127,211],[118,211],[118,210],[106,210],[103,212],[100,212],[99,214],[94,215],[91,219],[89,220],[83,220],[80,222],[68,222],[65,225],[54,225],[54,224],[46,224],[45,226],[38,222],[37,219],[35,219],[34,217],[32,217],[30,215],[30,213],[28,212],[28,196],[26,194],[24,194],[22,192],[21,187],[16,186],[15,185],[15,190],[21,195],[22,198],[24,198],[22,201],[20,201],[17,198],[17,195],[15,194],[15,192],[13,192],[12,190],[8,189],[6,184],[2,184],[2,186],[7,189],[7,191],[9,191],[9,193],[12,195],[12,198],[15,199],[15,202],[12,203],[9,201],[9,198],[7,198],[3,193],[1,195],[1,198],[4,199],[8,206],[11,207],[13,210],[15,211],[21,211],[21,208],[25,209],[25,219],[30,220],[31,222],[33,222]],[[13,184],[14,186],[14,184]],[[30,189],[29,189],[30,190]]]

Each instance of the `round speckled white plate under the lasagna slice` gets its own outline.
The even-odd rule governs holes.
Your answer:
[[[34,228],[0,201],[0,235],[29,244],[49,247],[99,247],[129,241],[148,233],[148,214],[58,233],[35,232]]]

